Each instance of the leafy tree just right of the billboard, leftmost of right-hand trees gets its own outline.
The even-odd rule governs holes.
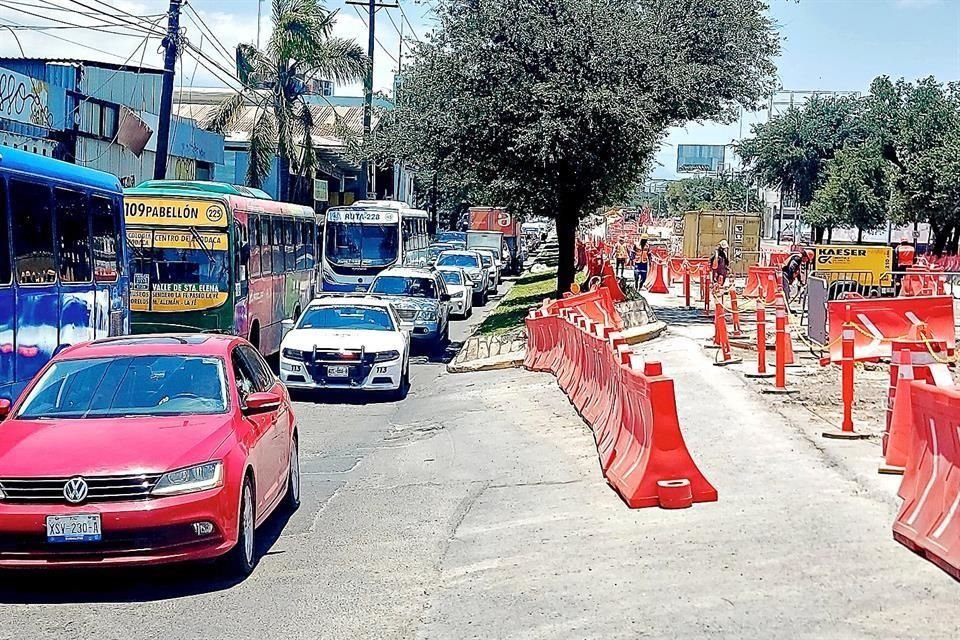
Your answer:
[[[837,152],[869,137],[862,112],[858,98],[813,98],[753,125],[753,135],[737,145],[737,153],[759,184],[778,189],[805,209],[813,202],[826,177],[827,164]],[[805,219],[816,226],[833,220],[823,216],[820,210]]]

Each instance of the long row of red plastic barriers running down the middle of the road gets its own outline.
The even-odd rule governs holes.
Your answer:
[[[684,443],[673,380],[659,363],[640,363],[611,337],[610,326],[584,315],[596,294],[531,311],[524,365],[557,377],[593,430],[604,476],[627,505],[682,508],[717,500]]]

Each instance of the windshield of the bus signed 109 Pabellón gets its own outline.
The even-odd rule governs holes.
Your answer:
[[[197,311],[229,298],[225,232],[131,228],[127,239],[133,254],[132,310]]]

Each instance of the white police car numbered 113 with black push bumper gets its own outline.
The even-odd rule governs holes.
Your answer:
[[[410,337],[388,301],[322,296],[284,328],[280,378],[290,389],[385,391],[398,400],[406,397]]]

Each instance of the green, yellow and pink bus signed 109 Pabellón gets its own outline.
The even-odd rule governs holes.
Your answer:
[[[313,209],[217,182],[124,192],[133,333],[218,332],[276,353],[281,322],[313,296]]]

